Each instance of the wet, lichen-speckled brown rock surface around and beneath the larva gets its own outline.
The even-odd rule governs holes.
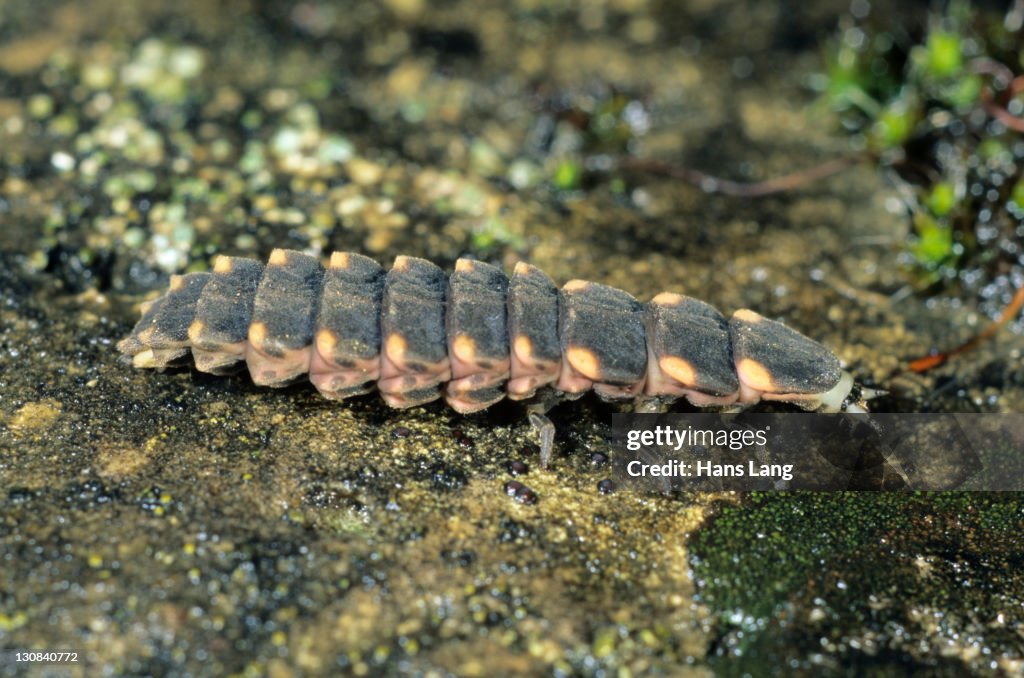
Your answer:
[[[339,406],[114,348],[216,253],[471,255],[757,308],[882,411],[1022,412],[1019,324],[894,374],[988,317],[911,289],[876,167],[743,200],[617,163],[850,153],[807,88],[847,10],[6,2],[0,648],[73,675],[1024,670],[1019,495],[616,491],[593,398],[542,469],[512,404]]]

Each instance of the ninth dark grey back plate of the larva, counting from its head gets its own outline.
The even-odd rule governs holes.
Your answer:
[[[214,268],[196,304],[195,322],[203,324],[199,348],[216,350],[245,341],[249,336],[253,300],[263,264],[239,257],[222,259],[230,262],[230,270]]]

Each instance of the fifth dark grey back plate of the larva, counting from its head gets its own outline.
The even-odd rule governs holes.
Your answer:
[[[473,340],[478,361],[509,356],[507,298],[509,279],[501,268],[474,261],[470,270],[456,270],[449,279],[447,338]]]

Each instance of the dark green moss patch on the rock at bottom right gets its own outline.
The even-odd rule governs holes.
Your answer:
[[[1013,565],[1022,528],[1024,502],[1011,494],[753,494],[696,536],[691,558],[734,653],[792,659],[825,638],[849,652],[859,645],[840,645],[880,633],[885,642],[893,628],[923,643],[895,638],[891,649],[908,656],[968,632],[998,650],[1013,634],[969,620],[1024,616]],[[945,627],[919,622],[933,609]]]

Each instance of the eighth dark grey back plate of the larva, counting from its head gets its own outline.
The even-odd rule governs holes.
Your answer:
[[[315,257],[294,250],[279,250],[287,260],[273,259],[263,269],[253,301],[253,323],[266,327],[260,350],[281,357],[286,350],[305,348],[313,339],[324,266]]]

